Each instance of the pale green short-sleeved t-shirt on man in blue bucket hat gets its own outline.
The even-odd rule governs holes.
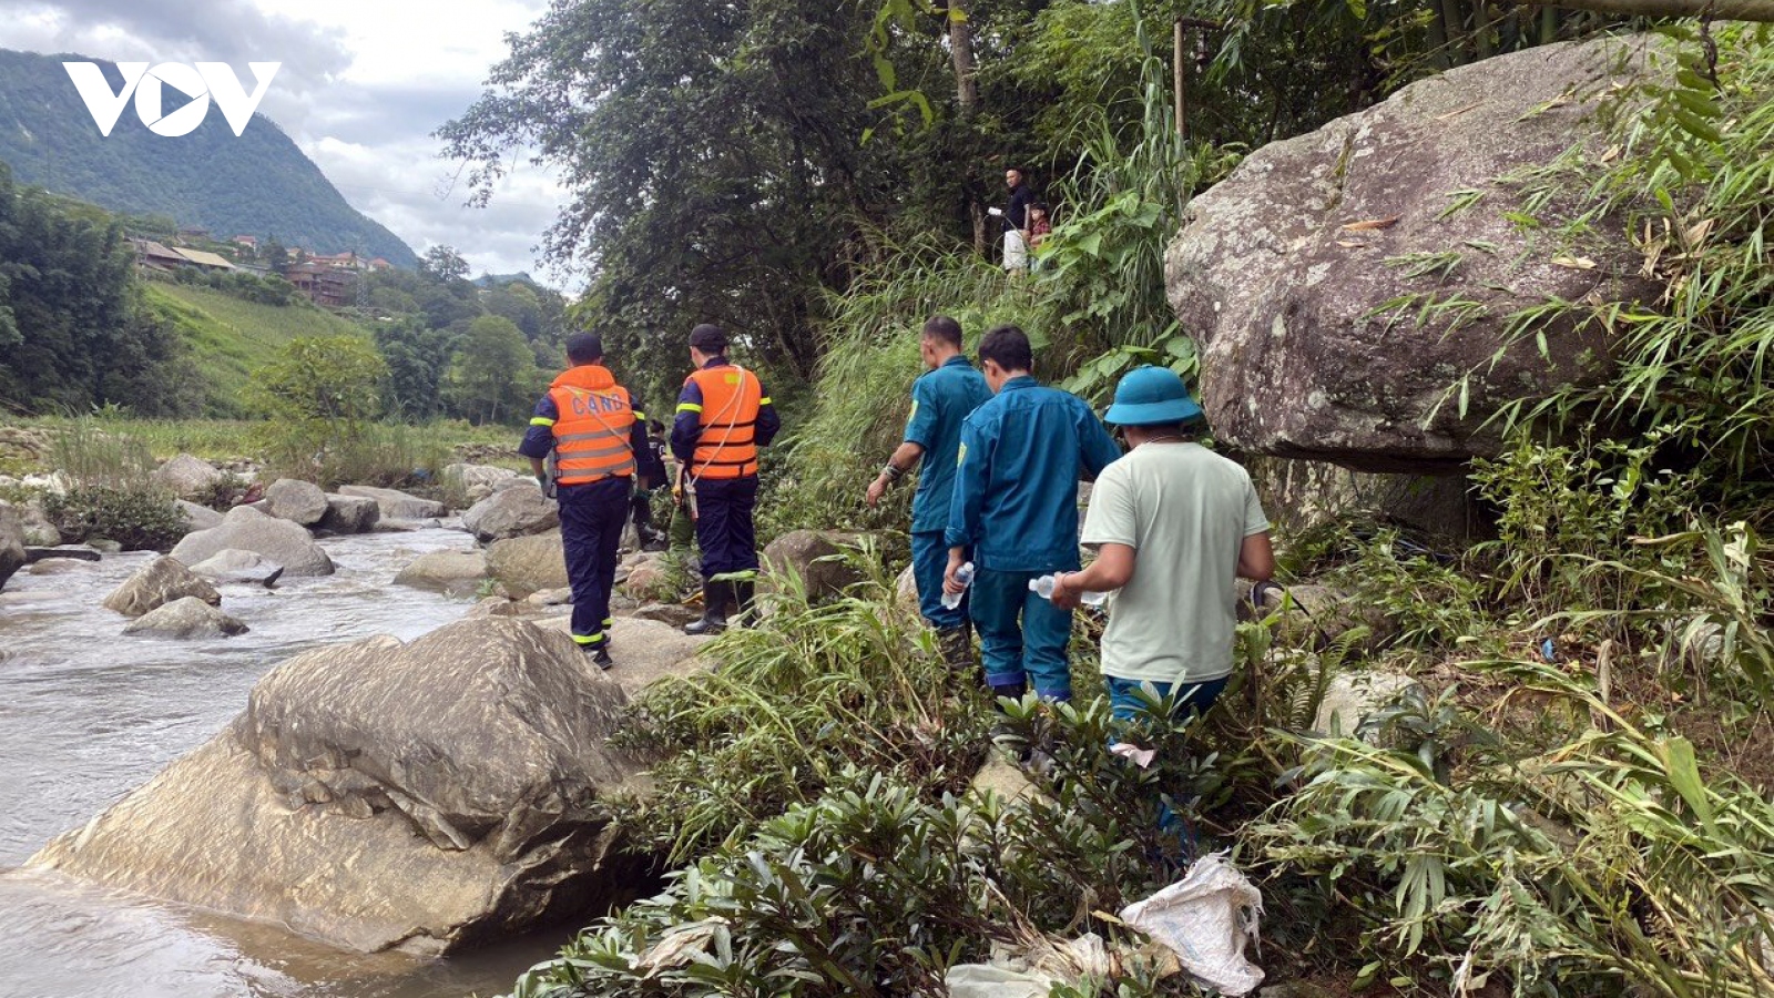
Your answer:
[[[1109,604],[1103,675],[1189,684],[1231,673],[1244,538],[1268,529],[1251,476],[1199,444],[1144,444],[1091,490],[1084,543],[1134,549]]]

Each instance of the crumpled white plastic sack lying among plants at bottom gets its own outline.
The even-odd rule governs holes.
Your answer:
[[[1249,994],[1263,968],[1244,959],[1258,943],[1263,891],[1226,863],[1224,852],[1196,859],[1181,881],[1121,909],[1121,922],[1176,952],[1190,977],[1222,994]]]

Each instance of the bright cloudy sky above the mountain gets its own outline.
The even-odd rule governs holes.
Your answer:
[[[529,270],[561,188],[520,165],[488,208],[465,208],[456,165],[429,135],[479,96],[546,0],[0,0],[0,48],[117,60],[282,62],[259,112],[319,163],[358,211],[417,252],[452,245],[475,273]]]

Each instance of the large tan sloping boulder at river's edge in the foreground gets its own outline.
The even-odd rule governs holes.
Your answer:
[[[497,941],[646,886],[598,806],[633,774],[607,741],[624,701],[514,620],[318,648],[28,865],[355,950]]]

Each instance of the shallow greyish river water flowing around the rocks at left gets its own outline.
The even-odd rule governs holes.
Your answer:
[[[147,781],[247,707],[273,666],[369,634],[417,638],[468,602],[396,588],[428,550],[474,547],[449,529],[328,538],[337,574],[275,590],[222,586],[239,638],[124,638],[99,606],[153,554],[55,574],[21,570],[0,593],[0,998],[465,998],[507,991],[568,929],[444,961],[341,952],[280,927],[160,904],[21,870],[55,835]]]

